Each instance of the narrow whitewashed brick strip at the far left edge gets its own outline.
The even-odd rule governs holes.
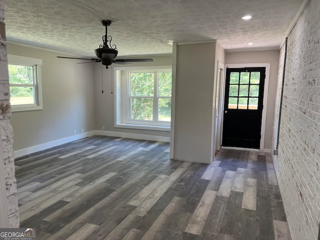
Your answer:
[[[11,107],[4,26],[4,1],[0,0],[0,131],[3,148],[5,189],[9,226],[19,226],[16,180],[14,176],[13,131],[10,125]]]

